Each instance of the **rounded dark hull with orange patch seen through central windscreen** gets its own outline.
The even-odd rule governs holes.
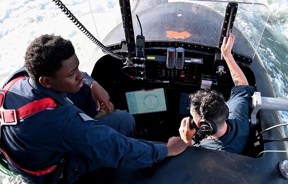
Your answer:
[[[175,40],[213,47],[219,44],[223,17],[209,7],[171,2],[149,7],[137,14],[147,41]],[[151,19],[153,21],[149,21]],[[139,29],[134,29],[134,33],[139,34]]]

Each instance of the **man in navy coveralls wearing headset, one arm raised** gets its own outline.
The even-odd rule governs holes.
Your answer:
[[[211,128],[216,131],[211,135],[205,135],[206,137],[199,136],[198,138],[202,140],[197,141],[195,137],[196,129],[190,129],[188,123],[185,123],[186,119],[189,122],[190,118],[183,118],[179,132],[183,140],[189,143],[190,146],[241,154],[247,142],[249,136],[248,114],[254,87],[249,86],[244,73],[231,54],[234,39],[235,36],[230,33],[228,40],[224,37],[221,46],[221,53],[229,67],[235,85],[227,101],[229,114],[226,114],[226,105],[221,93],[214,90],[200,90],[191,94],[189,96],[190,114],[195,124],[200,128],[203,123],[203,129],[205,130],[205,126],[211,123],[214,124]],[[206,125],[204,122],[206,122]],[[200,135],[203,131],[198,133]]]

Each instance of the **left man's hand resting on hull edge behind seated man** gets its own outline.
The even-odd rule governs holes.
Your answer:
[[[167,148],[168,148],[168,155],[175,156],[182,153],[188,146],[188,143],[185,143],[181,137],[171,137],[168,140]]]

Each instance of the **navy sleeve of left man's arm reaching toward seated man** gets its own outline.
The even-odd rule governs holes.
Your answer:
[[[77,114],[71,114],[56,144],[88,157],[89,168],[94,168],[94,164],[112,168],[149,167],[168,154],[165,144],[125,137],[93,119],[84,122]]]

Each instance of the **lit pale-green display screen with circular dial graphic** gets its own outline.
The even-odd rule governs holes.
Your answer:
[[[126,92],[130,114],[166,111],[164,88]]]

